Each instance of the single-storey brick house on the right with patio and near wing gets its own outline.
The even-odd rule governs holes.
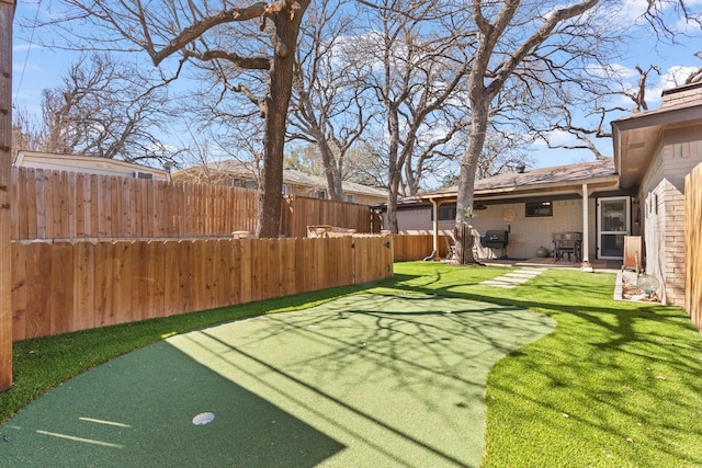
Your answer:
[[[613,159],[476,181],[474,235],[509,231],[508,256],[529,259],[554,233],[582,232],[585,266],[621,260],[624,237],[642,236],[661,301],[684,306],[684,176],[702,162],[702,83],[664,91],[660,109],[613,122],[612,135]],[[400,231],[451,232],[456,196],[453,186],[404,199]]]

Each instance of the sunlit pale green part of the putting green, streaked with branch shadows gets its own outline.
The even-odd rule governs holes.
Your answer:
[[[490,367],[553,329],[516,307],[361,294],[169,342],[344,446],[339,466],[478,466]]]

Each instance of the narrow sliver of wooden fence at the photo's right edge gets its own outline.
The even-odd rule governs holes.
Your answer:
[[[684,308],[702,332],[702,164],[684,178]]]

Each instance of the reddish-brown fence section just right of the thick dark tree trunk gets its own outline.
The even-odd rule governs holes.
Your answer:
[[[307,236],[307,226],[330,225],[355,229],[356,232],[380,232],[380,215],[367,205],[331,202],[306,196],[283,197],[281,235]]]

